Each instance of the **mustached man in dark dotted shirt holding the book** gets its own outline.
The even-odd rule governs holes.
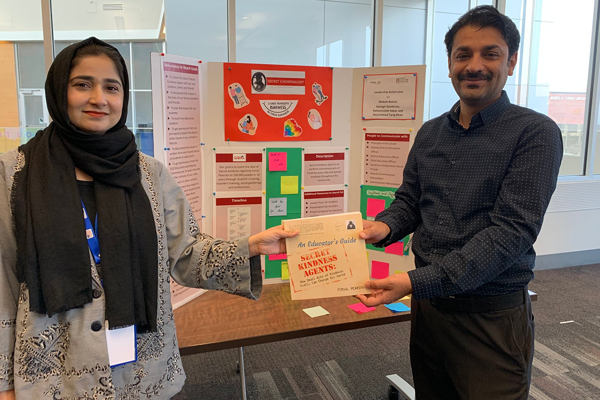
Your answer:
[[[547,116],[502,91],[517,64],[515,24],[491,6],[445,37],[460,98],[425,122],[395,200],[364,221],[383,247],[410,232],[416,269],[367,282],[367,306],[412,293],[416,399],[527,398],[534,323],[533,243],[556,188],[562,139]]]

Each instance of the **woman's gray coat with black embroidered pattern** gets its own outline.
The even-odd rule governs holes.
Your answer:
[[[52,318],[29,311],[27,286],[19,284],[15,274],[10,212],[14,175],[26,162],[16,150],[0,155],[0,392],[14,387],[17,399],[169,399],[185,381],[170,278],[189,287],[258,299],[260,258],[248,257],[247,238],[225,242],[201,233],[184,192],[166,167],[140,153],[142,185],[158,239],[158,329],[137,335],[136,363],[110,368],[104,328],[91,329],[94,321],[105,319],[104,293],[83,308]],[[91,254],[88,267],[92,286],[102,290]]]

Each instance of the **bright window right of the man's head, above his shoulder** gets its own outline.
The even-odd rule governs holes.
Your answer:
[[[506,14],[520,28],[523,50],[507,82],[509,97],[559,125],[564,145],[560,175],[582,175],[594,1],[571,2],[569,7],[560,0],[526,5],[523,0],[506,1]],[[557,61],[556,49],[569,49],[569,61]]]

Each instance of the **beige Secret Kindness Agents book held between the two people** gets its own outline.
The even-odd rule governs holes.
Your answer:
[[[371,293],[360,212],[283,221],[286,230],[298,230],[286,239],[292,300]]]

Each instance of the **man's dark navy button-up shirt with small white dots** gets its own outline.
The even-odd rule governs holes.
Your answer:
[[[459,115],[460,102],[425,122],[395,200],[376,218],[391,229],[377,247],[415,232],[416,299],[524,288],[556,188],[563,147],[554,121],[511,104],[505,91],[468,129]]]

